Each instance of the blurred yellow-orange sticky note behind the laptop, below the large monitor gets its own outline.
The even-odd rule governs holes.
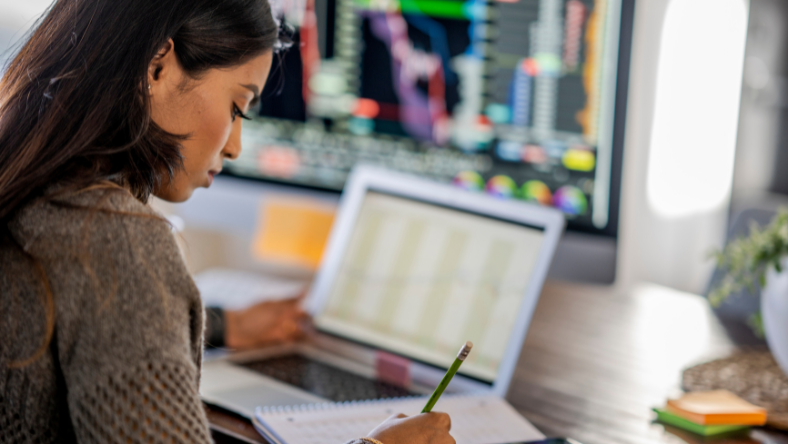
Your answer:
[[[319,202],[267,199],[260,209],[252,254],[265,261],[315,269],[334,213],[333,207]]]

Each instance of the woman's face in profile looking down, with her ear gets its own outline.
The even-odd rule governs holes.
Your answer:
[[[172,48],[170,41],[151,63],[147,88],[151,114],[163,130],[188,138],[182,143],[183,169],[154,194],[183,202],[196,188],[211,186],[225,158],[235,159],[241,153],[242,116],[260,100],[273,53],[191,79]]]

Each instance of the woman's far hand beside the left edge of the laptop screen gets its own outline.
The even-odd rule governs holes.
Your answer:
[[[247,309],[224,312],[224,342],[229,348],[247,349],[292,342],[304,335],[307,315],[300,299],[261,302]]]

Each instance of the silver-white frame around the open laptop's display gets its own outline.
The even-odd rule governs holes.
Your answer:
[[[524,300],[507,342],[504,358],[499,365],[497,376],[491,383],[493,393],[505,396],[514,375],[520,351],[536,309],[542,286],[550,269],[553,255],[565,227],[563,213],[554,208],[541,207],[519,201],[503,201],[417,176],[393,172],[374,166],[359,165],[351,173],[348,185],[340,198],[336,221],[331,230],[317,276],[305,302],[307,312],[315,319],[320,316],[328,303],[342,259],[350,244],[364,197],[368,191],[393,194],[398,197],[410,198],[423,203],[432,203],[458,211],[489,215],[515,224],[544,228],[543,243],[532,271],[532,278],[523,295]],[[328,333],[351,343],[358,343],[357,338],[344,337],[334,331],[323,331],[317,324],[316,328],[321,333]],[[372,346],[379,347],[374,344]],[[379,349],[383,350],[383,348]],[[396,351],[385,351],[414,362],[420,362],[413,357],[405,356]],[[435,368],[442,368],[434,363],[429,363],[429,365]],[[470,377],[473,378],[472,376]]]

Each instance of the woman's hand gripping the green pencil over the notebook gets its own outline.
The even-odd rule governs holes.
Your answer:
[[[394,415],[369,432],[383,444],[455,444],[449,435],[451,418],[445,413]]]

